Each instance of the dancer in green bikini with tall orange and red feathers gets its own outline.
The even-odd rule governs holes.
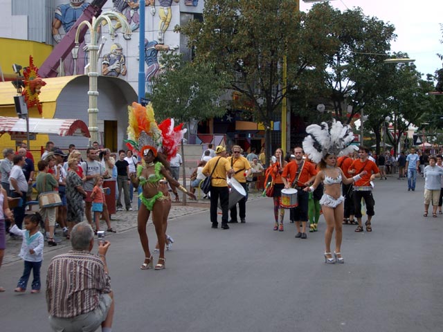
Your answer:
[[[161,162],[162,149],[167,156],[177,153],[178,142],[183,138],[181,125],[172,130],[159,129],[154,119],[154,111],[149,105],[146,108],[134,102],[129,107],[128,146],[136,149],[143,156],[142,165],[137,166],[137,173],[130,175],[134,186],[141,185],[141,206],[138,210],[137,226],[141,245],[145,252],[145,261],[142,270],[153,267],[153,257],[147,239],[146,224],[152,212],[157,240],[159,241],[159,261],[155,270],[165,268],[165,227],[171,208],[171,197],[168,192],[169,182],[182,192],[195,199],[195,194],[188,192],[178,181],[174,180],[170,172]],[[169,120],[169,119],[168,119]],[[170,121],[170,120],[169,120]],[[168,128],[170,126],[167,126]],[[163,160],[164,161],[164,160]]]

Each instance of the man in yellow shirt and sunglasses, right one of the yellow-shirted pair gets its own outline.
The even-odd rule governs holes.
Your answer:
[[[242,156],[242,148],[239,145],[233,146],[233,155],[228,157],[230,168],[234,170],[234,178],[242,185],[246,196],[238,201],[239,217],[241,223],[246,223],[246,201],[248,200],[248,186],[246,185],[246,177],[251,174],[251,164],[244,156]],[[228,223],[238,223],[237,220],[237,204],[230,208],[230,221]]]

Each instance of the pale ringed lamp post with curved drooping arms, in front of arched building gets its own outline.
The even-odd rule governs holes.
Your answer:
[[[93,17],[92,22],[89,23],[89,21],[82,21],[80,25],[78,26],[77,32],[75,33],[75,45],[78,47],[78,39],[80,36],[80,31],[82,30],[83,26],[87,26],[89,29],[90,39],[87,46],[87,51],[89,52],[89,107],[88,107],[88,114],[89,114],[89,123],[88,123],[88,129],[89,133],[91,133],[91,137],[89,138],[89,146],[92,146],[92,142],[98,142],[99,136],[98,136],[98,127],[97,127],[97,118],[98,118],[98,106],[97,106],[97,100],[98,100],[98,84],[97,84],[97,77],[98,77],[98,50],[99,46],[97,45],[98,39],[100,37],[100,30],[102,26],[102,22],[105,21],[107,25],[109,26],[109,35],[111,36],[111,39],[114,40],[114,26],[111,23],[111,19],[114,19],[116,21],[119,21],[123,33],[125,35],[131,35],[131,28],[129,27],[129,24],[127,24],[127,21],[125,19],[122,19],[118,15],[116,15],[115,12],[103,12],[102,15],[98,17]]]

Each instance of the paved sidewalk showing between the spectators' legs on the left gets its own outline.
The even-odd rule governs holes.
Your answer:
[[[255,199],[260,199],[262,192],[259,192],[257,190],[250,190],[249,191],[249,198],[248,201],[252,201]],[[132,230],[137,227],[137,210],[136,210],[136,194],[134,194],[134,211],[118,211],[116,214],[112,214],[111,216],[111,225],[114,230],[116,230],[116,233],[107,233],[107,237],[114,237],[118,236],[118,233],[125,232],[127,230]],[[187,197],[187,205],[183,205],[182,203],[182,195],[180,194],[180,202],[179,203],[172,203],[172,208],[170,210],[169,219],[168,221],[172,221],[174,219],[180,218],[181,216],[188,216],[192,214],[196,214],[202,211],[209,210],[210,202],[208,199],[201,199],[199,201],[191,201],[189,199],[189,196]],[[34,207],[34,211],[37,211],[38,208]],[[84,219],[86,220],[86,219]],[[149,219],[148,225],[152,225],[152,218]],[[100,228],[102,230],[106,229],[106,223],[105,221],[100,222]],[[55,239],[56,241],[60,241],[57,246],[55,247],[44,247],[44,252],[52,252],[54,250],[59,250],[61,248],[66,248],[66,246],[70,246],[70,241],[66,240],[62,236],[62,229],[56,228],[55,229]],[[6,235],[6,250],[5,255],[3,257],[3,264],[10,264],[13,261],[18,261],[21,258],[18,257],[19,252],[21,248],[21,238],[19,239],[11,239],[8,235]]]

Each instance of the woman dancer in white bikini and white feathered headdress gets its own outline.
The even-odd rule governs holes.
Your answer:
[[[360,174],[347,178],[343,170],[337,166],[336,157],[346,155],[353,151],[351,146],[354,135],[350,127],[341,122],[332,122],[329,129],[327,123],[323,122],[321,127],[318,124],[311,124],[306,129],[308,136],[303,141],[303,147],[309,158],[318,163],[318,172],[314,185],[305,188],[305,192],[314,192],[316,187],[323,182],[324,192],[320,199],[323,216],[326,221],[325,231],[325,263],[343,264],[345,261],[341,255],[342,222],[343,222],[343,202],[345,198],[341,194],[341,183],[349,185],[359,181],[367,173],[365,170]],[[331,253],[332,233],[335,229],[335,251],[334,257]]]

